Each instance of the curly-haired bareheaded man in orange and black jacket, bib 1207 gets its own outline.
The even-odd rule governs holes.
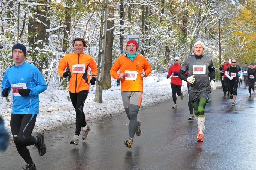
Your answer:
[[[69,76],[69,96],[76,112],[75,136],[70,144],[78,144],[81,128],[83,128],[83,140],[88,137],[88,132],[91,129],[91,126],[86,124],[83,108],[90,84],[95,85],[98,73],[93,57],[83,53],[84,47],[87,47],[87,42],[82,38],[75,38],[72,43],[74,53],[69,53],[60,60],[58,73],[64,78]],[[88,74],[89,67],[92,72],[91,79]],[[65,72],[66,68],[68,71]]]

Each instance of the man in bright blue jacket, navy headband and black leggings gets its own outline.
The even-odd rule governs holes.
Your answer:
[[[35,145],[39,155],[46,152],[44,136],[32,136],[36,116],[39,114],[39,94],[47,89],[44,77],[37,67],[25,62],[27,49],[23,44],[12,47],[14,66],[6,70],[1,95],[7,97],[12,90],[13,106],[10,127],[17,151],[24,159],[25,169],[36,169],[27,146]]]

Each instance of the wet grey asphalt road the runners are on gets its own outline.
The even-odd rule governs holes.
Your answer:
[[[38,170],[256,169],[256,93],[249,98],[248,89],[238,90],[236,106],[231,99],[222,99],[221,89],[212,91],[203,143],[197,142],[196,120],[188,120],[188,96],[184,96],[183,100],[178,97],[177,109],[172,109],[172,99],[142,107],[138,116],[142,135],[135,135],[132,148],[123,144],[128,137],[123,112],[87,120],[92,129],[86,140],[80,135],[79,145],[69,144],[75,125],[44,132],[46,154],[39,156],[33,146],[30,153]],[[1,156],[0,169],[22,169],[23,165],[11,144]]]

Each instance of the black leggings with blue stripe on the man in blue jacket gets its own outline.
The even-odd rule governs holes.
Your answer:
[[[37,138],[31,136],[35,126],[37,114],[11,114],[11,133],[17,151],[26,164],[33,164],[27,146],[37,143]]]

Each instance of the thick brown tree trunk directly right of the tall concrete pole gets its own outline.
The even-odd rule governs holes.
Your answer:
[[[108,18],[114,18],[114,0],[110,2],[108,6]],[[113,28],[114,20],[108,20],[107,29]],[[112,68],[112,50],[114,41],[114,29],[107,31],[106,35],[106,52],[105,52],[105,63],[104,63],[104,77],[103,77],[103,89],[111,88],[111,75],[110,69]]]

